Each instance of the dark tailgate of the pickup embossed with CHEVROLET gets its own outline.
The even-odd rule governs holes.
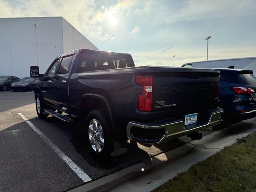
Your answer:
[[[217,70],[154,68],[153,112],[169,110],[170,115],[179,115],[215,108],[218,92]]]

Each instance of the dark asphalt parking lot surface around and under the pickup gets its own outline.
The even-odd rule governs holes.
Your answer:
[[[128,152],[96,162],[88,152],[80,122],[37,117],[33,92],[0,92],[0,191],[62,192],[84,184],[81,178],[19,115],[24,115],[92,180],[136,164],[145,158],[182,146],[185,137],[164,144],[129,142]],[[204,130],[203,135],[212,131]]]

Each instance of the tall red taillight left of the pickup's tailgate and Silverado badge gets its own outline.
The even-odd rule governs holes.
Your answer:
[[[153,100],[153,77],[136,76],[135,83],[142,86],[142,92],[138,95],[138,110],[151,111]]]

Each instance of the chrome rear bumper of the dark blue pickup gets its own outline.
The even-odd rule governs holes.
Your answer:
[[[216,108],[203,112],[204,121],[186,125],[182,119],[170,119],[168,122],[140,123],[129,122],[126,127],[127,137],[142,143],[161,143],[220,124],[224,110]]]

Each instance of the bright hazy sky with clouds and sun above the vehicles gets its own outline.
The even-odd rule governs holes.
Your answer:
[[[62,16],[136,66],[256,56],[256,0],[0,0],[0,18]]]

